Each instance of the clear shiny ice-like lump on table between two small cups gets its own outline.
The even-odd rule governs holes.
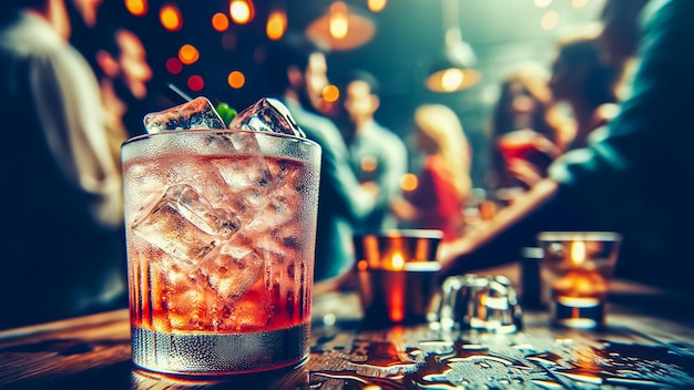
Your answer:
[[[522,328],[522,310],[504,276],[458,275],[441,285],[438,321],[442,329],[512,333]]]

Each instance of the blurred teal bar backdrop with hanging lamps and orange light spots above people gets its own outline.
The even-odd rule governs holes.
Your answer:
[[[603,1],[104,0],[102,7],[122,8],[123,24],[143,39],[154,71],[151,94],[164,94],[172,82],[191,96],[234,107],[266,94],[261,65],[267,42],[304,31],[330,49],[331,82],[356,68],[378,78],[376,119],[402,138],[417,105],[453,109],[474,151],[473,185],[481,187],[489,164],[486,127],[501,79],[523,62],[549,68],[557,40],[594,25]],[[436,81],[448,85],[428,82],[451,57],[465,71],[439,74]],[[325,99],[335,104],[335,89],[326,89]]]

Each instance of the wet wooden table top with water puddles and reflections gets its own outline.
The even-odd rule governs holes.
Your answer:
[[[647,315],[647,302],[663,297],[624,286],[615,287],[602,331],[551,328],[547,312],[527,311],[523,330],[513,335],[427,324],[369,328],[356,294],[326,294],[314,299],[312,350],[303,367],[206,382],[134,370],[127,311],[119,310],[0,332],[0,388],[694,388],[691,318]]]

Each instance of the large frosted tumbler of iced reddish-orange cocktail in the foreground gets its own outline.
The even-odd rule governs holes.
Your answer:
[[[165,131],[122,160],[134,363],[218,376],[305,361],[320,147]]]

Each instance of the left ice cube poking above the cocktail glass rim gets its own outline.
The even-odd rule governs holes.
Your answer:
[[[143,122],[150,134],[170,130],[226,129],[210,100],[203,96],[164,111],[149,113]]]

